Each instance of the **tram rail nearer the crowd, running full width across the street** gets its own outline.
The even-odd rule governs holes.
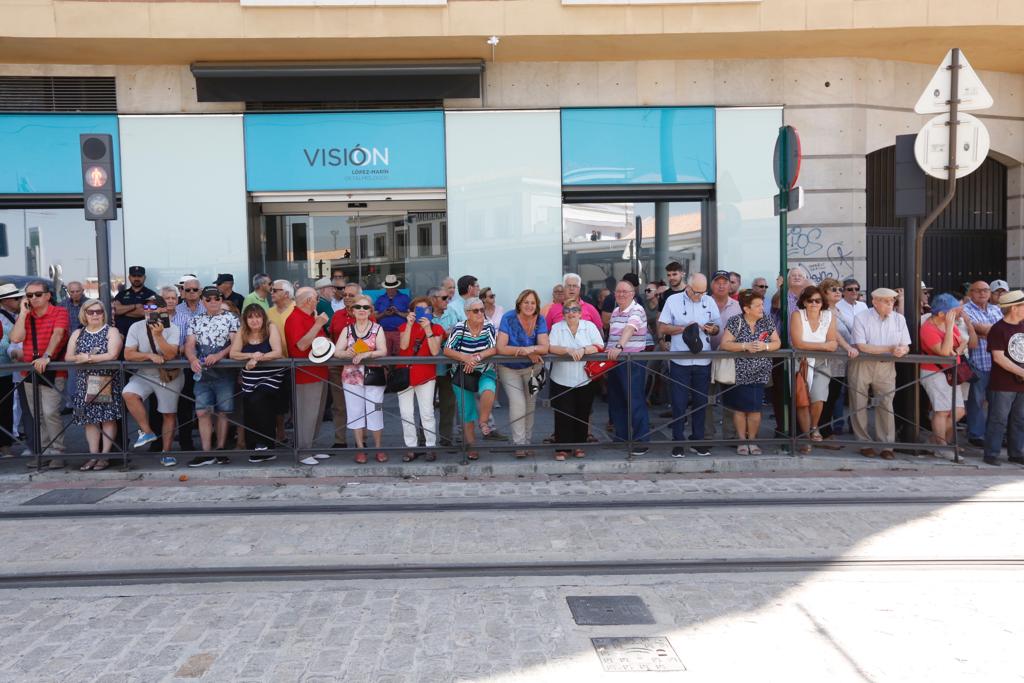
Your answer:
[[[823,497],[823,498],[721,498],[721,499],[612,499],[612,500],[514,500],[455,501],[443,503],[288,503],[207,505],[65,505],[0,510],[0,521],[24,519],[61,519],[84,517],[167,517],[228,515],[346,515],[444,512],[517,512],[558,510],[640,510],[702,509],[742,507],[856,507],[923,506],[955,504],[1024,504],[1017,498],[957,498],[954,496],[920,497]],[[25,504],[23,504],[25,505]]]

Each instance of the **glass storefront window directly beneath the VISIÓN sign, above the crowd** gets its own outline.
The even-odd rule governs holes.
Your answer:
[[[447,274],[444,219],[443,211],[265,215],[251,268],[300,285],[340,271],[369,291],[394,274],[403,290],[422,294]]]

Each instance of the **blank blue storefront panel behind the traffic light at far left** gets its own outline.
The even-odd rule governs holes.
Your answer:
[[[114,137],[114,182],[120,190],[117,116],[0,114],[0,195],[81,194],[81,133]]]

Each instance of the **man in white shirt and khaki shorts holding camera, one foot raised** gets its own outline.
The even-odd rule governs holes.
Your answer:
[[[161,367],[178,356],[181,332],[176,325],[171,325],[168,314],[168,311],[174,310],[178,304],[177,289],[164,287],[160,290],[160,294],[163,297],[161,301],[151,299],[142,304],[145,318],[132,324],[125,337],[125,360],[150,362],[153,367],[136,371],[122,391],[122,395],[125,407],[138,423],[135,447],[141,447],[162,438],[165,455],[160,459],[160,464],[170,467],[177,464],[176,459],[166,454],[171,450],[171,441],[174,438],[178,395],[184,386],[185,376],[180,368],[169,370]],[[144,401],[151,395],[156,396],[157,411],[162,420],[160,437],[154,433],[145,410]]]

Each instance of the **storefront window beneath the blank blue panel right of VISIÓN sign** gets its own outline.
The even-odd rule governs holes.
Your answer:
[[[701,269],[703,256],[700,202],[669,202],[669,253],[654,262],[654,203],[566,204],[562,208],[562,261],[578,272],[592,297],[614,289],[627,272],[641,282],[665,279],[665,266],[678,261],[687,273]]]

